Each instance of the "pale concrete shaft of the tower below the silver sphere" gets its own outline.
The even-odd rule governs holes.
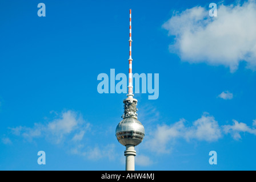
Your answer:
[[[127,144],[126,145],[126,165],[125,170],[126,171],[134,171],[135,170],[135,163],[134,163],[134,156],[136,155],[136,151],[134,150],[134,145]]]

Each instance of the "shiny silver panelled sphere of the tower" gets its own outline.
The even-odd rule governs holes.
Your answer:
[[[115,136],[123,146],[132,144],[137,146],[145,136],[145,130],[141,122],[133,117],[125,118],[117,125]]]

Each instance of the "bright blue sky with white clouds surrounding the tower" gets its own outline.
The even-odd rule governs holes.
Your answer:
[[[125,169],[126,94],[99,94],[97,76],[128,73],[131,9],[133,72],[159,73],[157,100],[134,96],[135,169],[255,170],[256,3],[210,17],[212,2],[1,1],[0,169]]]

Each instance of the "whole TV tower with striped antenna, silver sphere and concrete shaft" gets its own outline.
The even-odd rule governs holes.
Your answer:
[[[137,114],[137,103],[138,101],[133,98],[133,74],[131,71],[133,59],[131,59],[131,10],[130,10],[130,57],[129,57],[129,85],[127,98],[123,100],[125,111],[123,112],[123,120],[117,125],[115,129],[115,136],[118,142],[123,146],[126,146],[125,156],[126,156],[126,171],[134,171],[134,156],[136,151],[134,147],[142,142],[145,136],[145,130],[141,122],[138,121]]]

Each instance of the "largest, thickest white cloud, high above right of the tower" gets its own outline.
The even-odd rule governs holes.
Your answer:
[[[201,6],[174,12],[163,24],[175,36],[170,51],[183,61],[225,65],[234,72],[241,61],[256,67],[256,3],[218,5],[218,16],[209,16],[210,8]]]

